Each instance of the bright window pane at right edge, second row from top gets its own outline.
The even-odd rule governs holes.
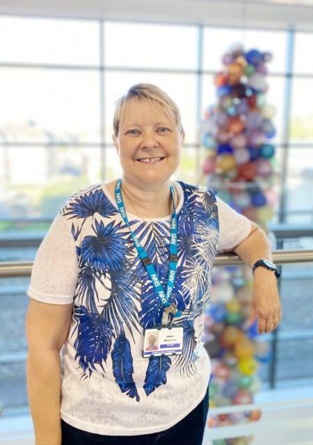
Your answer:
[[[313,79],[299,79],[294,77],[291,93],[290,122],[290,138],[292,142],[313,141],[312,91]]]

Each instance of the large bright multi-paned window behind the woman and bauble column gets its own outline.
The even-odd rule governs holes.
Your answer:
[[[134,83],[156,83],[177,102],[186,140],[175,177],[205,185],[198,122],[216,102],[214,74],[233,42],[273,54],[267,102],[276,111],[277,188],[286,193],[277,211],[282,221],[312,223],[312,33],[0,17],[0,36],[0,261],[32,260],[67,197],[120,175],[113,109]],[[5,247],[26,238],[20,248]],[[26,403],[28,282],[1,280],[1,319],[14,317],[0,334],[6,407]]]

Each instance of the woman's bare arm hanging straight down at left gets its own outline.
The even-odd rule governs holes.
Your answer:
[[[72,304],[51,305],[31,298],[26,318],[29,345],[27,387],[35,445],[61,445],[61,360]]]

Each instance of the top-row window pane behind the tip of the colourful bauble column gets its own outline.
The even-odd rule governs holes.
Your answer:
[[[241,43],[245,51],[270,51],[273,58],[266,66],[268,71],[284,72],[286,67],[287,33],[285,31],[259,31],[234,28],[205,28],[203,44],[204,70],[220,70],[222,57],[234,43]]]

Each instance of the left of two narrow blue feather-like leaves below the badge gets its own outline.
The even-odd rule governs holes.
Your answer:
[[[124,333],[120,334],[115,340],[111,357],[115,382],[122,392],[125,392],[131,398],[136,398],[136,401],[139,402],[140,398],[132,376],[134,368],[131,348]]]

